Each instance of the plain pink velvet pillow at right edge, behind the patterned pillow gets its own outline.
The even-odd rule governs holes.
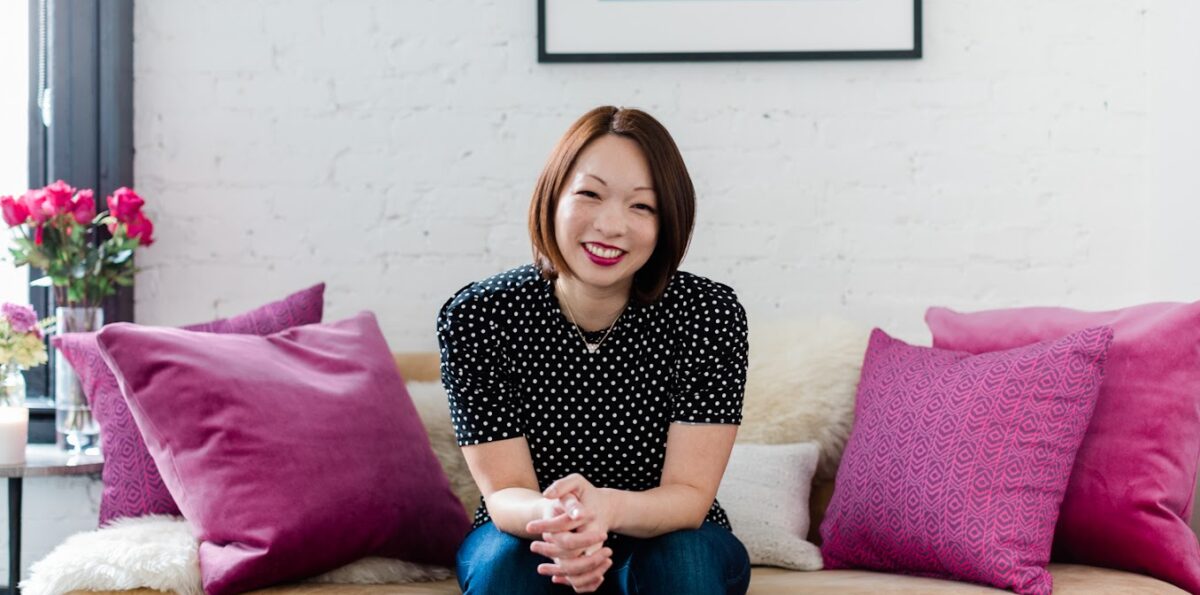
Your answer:
[[[1142,572],[1200,593],[1188,527],[1200,458],[1200,302],[1111,312],[930,308],[934,345],[1008,349],[1109,325],[1116,337],[1067,485],[1054,559]]]

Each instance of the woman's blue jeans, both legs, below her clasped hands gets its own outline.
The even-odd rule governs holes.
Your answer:
[[[463,595],[574,594],[538,573],[550,559],[529,551],[529,540],[478,527],[458,548],[458,587]],[[650,539],[620,536],[612,567],[595,593],[620,595],[745,595],[750,587],[746,548],[724,527],[708,521],[700,529]]]

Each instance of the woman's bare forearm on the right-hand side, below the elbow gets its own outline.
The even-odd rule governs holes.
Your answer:
[[[601,488],[611,503],[610,530],[631,537],[654,537],[704,523],[713,499],[695,487],[672,483],[644,492]]]

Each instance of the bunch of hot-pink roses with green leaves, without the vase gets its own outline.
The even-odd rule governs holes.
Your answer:
[[[0,212],[17,235],[11,248],[17,266],[46,271],[56,303],[98,306],[120,286],[133,283],[133,251],[154,244],[154,223],[142,208],[145,200],[131,188],[107,198],[97,214],[95,193],[58,180],[20,198],[0,197]],[[103,226],[110,238],[98,241]]]

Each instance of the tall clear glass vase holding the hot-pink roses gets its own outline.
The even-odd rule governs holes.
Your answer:
[[[54,308],[55,335],[94,332],[104,324],[104,311],[91,306]],[[100,451],[100,426],[91,415],[79,377],[62,351],[54,350],[54,429],[59,447],[76,453]]]

